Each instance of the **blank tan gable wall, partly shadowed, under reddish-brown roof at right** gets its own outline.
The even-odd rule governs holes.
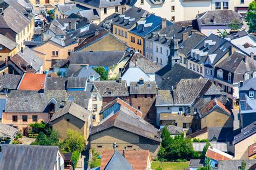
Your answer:
[[[224,114],[219,108],[201,118],[201,129],[207,128],[233,128],[234,118]]]

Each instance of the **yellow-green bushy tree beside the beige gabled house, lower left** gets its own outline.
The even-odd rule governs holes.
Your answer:
[[[85,149],[84,136],[79,132],[68,129],[66,135],[67,138],[60,144],[63,152],[78,151],[80,153]]]

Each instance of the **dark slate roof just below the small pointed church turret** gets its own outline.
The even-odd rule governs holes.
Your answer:
[[[161,82],[158,82],[159,89],[172,90],[181,79],[200,79],[202,77],[200,74],[197,74],[178,63],[174,64],[172,69],[170,65],[171,63],[156,72],[156,74],[163,79]]]

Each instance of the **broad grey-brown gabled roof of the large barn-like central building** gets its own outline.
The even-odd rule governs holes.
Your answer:
[[[99,125],[91,129],[90,135],[104,131],[109,128],[118,128],[160,143],[160,132],[143,118],[134,114],[127,108],[120,108],[113,116],[105,118]]]

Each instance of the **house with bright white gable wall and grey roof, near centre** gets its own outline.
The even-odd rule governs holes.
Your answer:
[[[155,81],[155,72],[159,69],[160,67],[156,63],[136,52],[125,63],[120,76],[127,82],[127,86],[130,86],[130,82],[137,82],[139,79],[143,79],[145,82]]]

